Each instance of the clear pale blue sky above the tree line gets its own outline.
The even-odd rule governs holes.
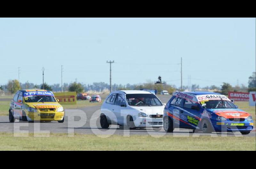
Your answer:
[[[0,18],[0,84],[20,82],[180,86],[248,85],[255,71],[255,18]]]

